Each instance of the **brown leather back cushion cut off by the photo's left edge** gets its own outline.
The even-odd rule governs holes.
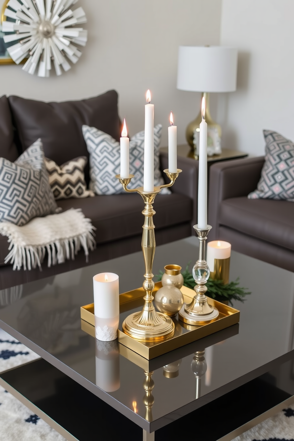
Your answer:
[[[13,126],[9,103],[7,97],[3,96],[0,97],[0,157],[14,162],[18,156],[19,153],[13,142]]]

